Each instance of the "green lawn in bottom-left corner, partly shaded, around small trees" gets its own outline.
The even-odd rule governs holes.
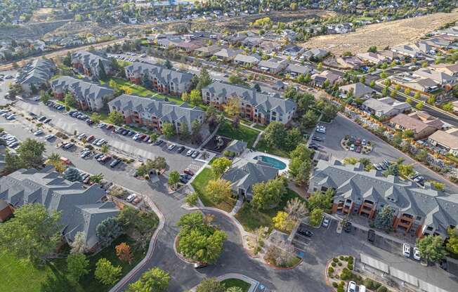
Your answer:
[[[129,244],[133,251],[131,265],[121,262],[114,251],[114,246],[121,242]],[[100,258],[107,258],[113,265],[122,266],[124,276],[145,256],[145,251],[134,247],[132,239],[123,235],[111,246],[89,258],[90,272],[75,283],[67,275],[67,264],[65,259],[52,260],[44,267],[34,267],[28,260],[18,260],[6,253],[0,253],[0,286],[1,291],[8,292],[103,292],[109,291],[110,286],[100,284],[94,279],[93,272],[96,269],[96,262]]]

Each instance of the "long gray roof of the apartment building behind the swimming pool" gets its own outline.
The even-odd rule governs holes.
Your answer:
[[[204,90],[207,90],[215,96],[221,98],[228,98],[232,95],[236,95],[237,97],[242,98],[242,100],[249,102],[251,105],[254,105],[254,108],[263,112],[263,114],[267,114],[267,112],[272,110],[286,114],[287,112],[292,112],[296,109],[296,103],[291,98],[278,98],[264,93],[259,93],[251,88],[244,88],[233,84],[214,82],[205,87]]]

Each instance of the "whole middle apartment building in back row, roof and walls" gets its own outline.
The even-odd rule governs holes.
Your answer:
[[[134,84],[152,88],[159,93],[181,95],[191,88],[192,74],[175,69],[168,69],[162,65],[152,65],[143,62],[133,62],[124,67],[126,78]],[[146,84],[146,80],[148,83]]]

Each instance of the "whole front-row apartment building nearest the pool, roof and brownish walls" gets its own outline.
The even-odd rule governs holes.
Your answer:
[[[159,133],[162,132],[164,123],[171,123],[176,133],[179,133],[182,124],[191,130],[193,121],[200,124],[204,122],[204,112],[198,107],[190,107],[186,102],[175,105],[156,98],[123,94],[108,102],[108,107],[110,112],[121,113],[126,124],[146,126]]]

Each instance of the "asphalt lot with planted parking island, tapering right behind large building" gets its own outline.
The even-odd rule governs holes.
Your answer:
[[[442,175],[431,171],[429,168],[419,164],[414,159],[410,158],[403,152],[395,149],[384,140],[381,140],[376,135],[365,130],[353,121],[338,115],[331,124],[323,124],[326,126],[326,134],[315,133],[320,138],[324,138],[323,142],[315,142],[315,144],[321,145],[320,152],[327,152],[329,156],[334,159],[343,160],[346,157],[368,158],[372,163],[379,163],[386,159],[388,161],[395,161],[399,157],[404,159],[405,164],[414,164],[416,171],[421,173],[426,180],[437,180],[441,183],[445,183],[445,190],[451,194],[458,193],[458,186],[451,183],[449,180],[445,180]],[[374,150],[369,154],[360,154],[352,151],[344,150],[340,143],[345,135],[353,135],[355,138],[365,139],[367,141],[375,142]]]

